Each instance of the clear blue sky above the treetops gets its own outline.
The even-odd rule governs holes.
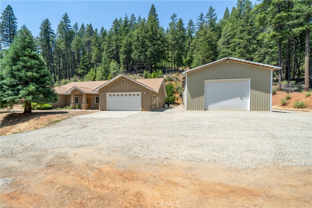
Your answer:
[[[257,1],[252,1],[253,4]],[[196,17],[208,11],[210,5],[216,9],[219,18],[223,17],[225,8],[230,12],[236,5],[236,1],[0,1],[1,12],[10,4],[17,17],[18,28],[25,24],[33,36],[39,34],[42,20],[48,18],[51,27],[56,30],[62,15],[67,12],[71,25],[75,22],[80,26],[82,23],[92,23],[93,28],[103,26],[109,30],[113,20],[117,17],[130,17],[134,13],[147,19],[149,9],[155,5],[160,25],[165,29],[170,22],[170,16],[177,14],[182,18],[185,27],[190,19],[196,22]]]

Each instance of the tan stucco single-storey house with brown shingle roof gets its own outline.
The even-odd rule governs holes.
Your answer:
[[[167,97],[163,78],[133,80],[118,75],[111,80],[71,82],[55,87],[60,100],[53,108],[150,111],[163,108]]]

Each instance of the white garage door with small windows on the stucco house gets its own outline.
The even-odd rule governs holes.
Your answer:
[[[141,93],[107,93],[107,110],[141,111]]]

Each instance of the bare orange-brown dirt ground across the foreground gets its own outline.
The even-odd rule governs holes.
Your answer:
[[[1,156],[1,207],[311,207],[311,167],[231,172],[97,147]],[[7,152],[7,153],[6,153]]]

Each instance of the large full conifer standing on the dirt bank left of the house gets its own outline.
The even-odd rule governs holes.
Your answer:
[[[25,25],[4,55],[1,77],[1,108],[24,104],[24,113],[31,113],[32,102],[58,100],[45,61],[37,54],[34,38]]]

